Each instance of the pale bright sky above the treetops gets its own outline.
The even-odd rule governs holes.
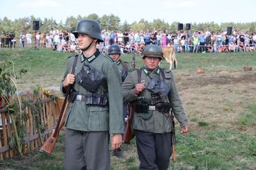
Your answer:
[[[95,13],[99,17],[113,14],[120,24],[141,19],[161,19],[168,24],[256,22],[255,0],[1,0],[0,6],[0,19],[12,21],[33,15],[65,24],[67,17]]]

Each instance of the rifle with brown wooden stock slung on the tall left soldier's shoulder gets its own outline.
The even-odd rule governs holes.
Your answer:
[[[74,69],[77,65],[77,58],[78,58],[78,56],[75,56],[73,67],[71,69],[71,74],[74,74]],[[66,96],[65,96],[65,99],[63,102],[63,106],[61,108],[60,116],[58,117],[58,123],[56,125],[56,128],[54,128],[52,130],[51,135],[45,141],[45,144],[43,144],[42,147],[40,148],[40,150],[39,150],[40,153],[45,153],[46,155],[51,155],[52,151],[54,151],[54,146],[57,142],[58,135],[61,131],[61,128],[65,124],[65,114],[66,114],[68,105],[70,103],[67,99],[68,99],[68,96],[70,95],[71,87],[72,87],[72,85],[67,86]]]

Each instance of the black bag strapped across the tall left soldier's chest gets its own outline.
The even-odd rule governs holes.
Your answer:
[[[106,77],[102,74],[102,71],[95,69],[85,62],[81,71],[77,74],[76,82],[88,90],[88,92],[95,93],[99,85],[106,82]]]

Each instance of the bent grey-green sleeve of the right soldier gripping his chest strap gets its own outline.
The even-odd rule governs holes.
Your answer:
[[[134,71],[132,71],[122,83],[122,99],[127,103],[137,99],[137,95],[134,94],[134,88],[136,85],[134,83],[134,79],[136,78],[137,76],[135,76]]]

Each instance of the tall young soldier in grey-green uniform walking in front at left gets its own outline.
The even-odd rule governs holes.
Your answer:
[[[81,53],[67,58],[61,82],[65,94],[72,85],[70,106],[65,117],[65,169],[110,169],[111,148],[120,148],[124,121],[122,80],[118,65],[96,49],[103,42],[101,26],[93,20],[81,20],[74,31]],[[70,74],[78,57],[74,75]]]

